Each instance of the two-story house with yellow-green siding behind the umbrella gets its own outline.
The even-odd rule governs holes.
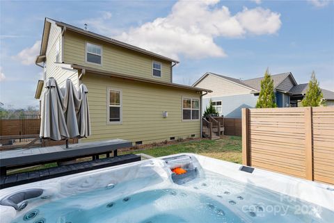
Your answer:
[[[86,84],[92,135],[84,140],[145,144],[201,135],[200,104],[210,90],[173,83],[177,60],[47,18],[35,63],[60,87],[66,79]]]

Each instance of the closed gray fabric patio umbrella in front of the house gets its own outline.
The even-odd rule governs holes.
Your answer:
[[[50,78],[45,88],[40,137],[52,140],[87,138],[91,131],[86,85],[81,84],[77,90],[67,79],[65,88],[60,89],[56,80]]]

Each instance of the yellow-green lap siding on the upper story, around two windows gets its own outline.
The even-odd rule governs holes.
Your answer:
[[[86,63],[86,42],[102,45],[102,65]],[[95,40],[78,33],[66,31],[64,35],[64,62],[102,69],[109,72],[129,74],[157,81],[170,82],[171,63],[147,56],[124,47]],[[161,77],[152,76],[152,61],[161,63]]]

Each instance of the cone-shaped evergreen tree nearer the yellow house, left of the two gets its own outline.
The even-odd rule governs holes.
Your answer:
[[[257,99],[256,108],[276,108],[276,98],[273,92],[273,79],[269,74],[269,69],[264,74],[264,79],[261,81],[261,90]]]

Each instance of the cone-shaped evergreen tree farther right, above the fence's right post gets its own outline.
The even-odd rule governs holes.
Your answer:
[[[321,88],[319,88],[319,82],[315,78],[315,72],[312,72],[312,76],[310,82],[308,83],[308,91],[305,94],[303,101],[301,104],[303,106],[320,106],[322,101],[323,95],[321,92]]]

